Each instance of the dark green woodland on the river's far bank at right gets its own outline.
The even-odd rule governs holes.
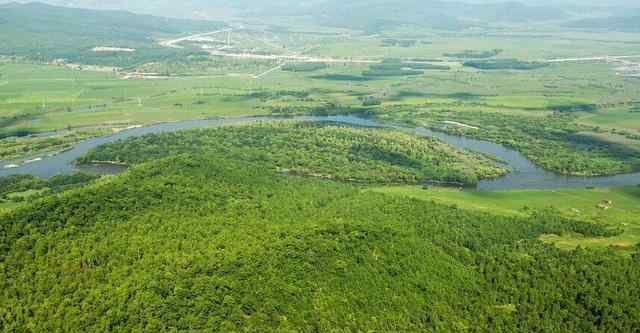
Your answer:
[[[450,134],[464,135],[513,147],[537,165],[560,174],[602,176],[640,170],[640,153],[628,146],[599,139],[585,132],[597,128],[574,122],[575,115],[567,110],[590,108],[589,105],[564,105],[563,110],[541,117],[527,117],[498,112],[415,110],[413,125],[425,124]],[[403,108],[402,111],[406,111]],[[404,119],[399,110],[387,108],[382,117]],[[475,128],[449,126],[445,121],[457,121]]]

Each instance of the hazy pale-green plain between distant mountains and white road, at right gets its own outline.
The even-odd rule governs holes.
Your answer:
[[[390,38],[415,38],[428,41],[417,43],[414,47],[385,47],[382,40]],[[375,57],[425,57],[439,58],[445,53],[460,53],[466,50],[490,51],[503,49],[499,58],[519,58],[542,60],[566,57],[589,57],[594,54],[637,54],[640,38],[634,33],[622,32],[568,32],[547,30],[544,32],[513,31],[495,32],[449,32],[410,31],[402,28],[387,31],[383,36],[351,36],[350,38],[326,38],[322,45],[316,45],[313,54],[343,57],[359,56],[363,49],[370,50],[369,56]]]

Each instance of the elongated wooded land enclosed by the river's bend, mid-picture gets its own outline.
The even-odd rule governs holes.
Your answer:
[[[186,152],[262,161],[293,175],[365,183],[473,185],[506,172],[482,155],[390,129],[309,122],[261,122],[131,138],[98,147],[81,163],[136,164]]]

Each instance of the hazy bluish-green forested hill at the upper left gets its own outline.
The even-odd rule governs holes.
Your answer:
[[[152,52],[166,56],[167,50],[160,50],[154,37],[211,31],[222,26],[219,22],[169,19],[125,11],[11,3],[0,5],[0,55],[100,62],[100,57],[114,55],[95,54],[91,50],[107,46],[140,51],[120,54],[120,57],[141,59]]]

